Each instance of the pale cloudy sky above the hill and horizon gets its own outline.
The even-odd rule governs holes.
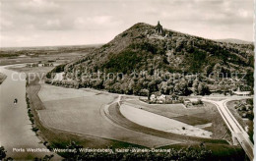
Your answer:
[[[0,0],[0,47],[106,43],[137,23],[253,40],[253,0]]]

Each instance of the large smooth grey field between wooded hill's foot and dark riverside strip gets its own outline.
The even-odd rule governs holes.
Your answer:
[[[48,128],[115,139],[147,147],[176,143],[176,141],[140,134],[112,125],[104,118],[101,110],[113,101],[113,94],[41,84],[38,95],[45,110],[37,112],[42,124]]]

